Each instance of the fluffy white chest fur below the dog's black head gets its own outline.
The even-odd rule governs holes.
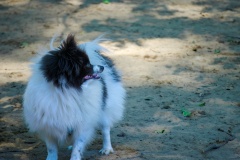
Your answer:
[[[32,82],[37,82],[33,80]],[[90,80],[81,89],[57,88],[44,82],[41,87],[34,90],[34,85],[29,83],[30,90],[25,93],[25,98],[33,106],[29,110],[31,117],[29,127],[33,132],[45,130],[53,138],[64,141],[69,134],[80,132],[87,126],[96,126],[102,109],[102,84],[100,81]],[[34,97],[36,96],[36,97]],[[41,97],[41,98],[37,98]],[[52,132],[54,131],[54,132]]]

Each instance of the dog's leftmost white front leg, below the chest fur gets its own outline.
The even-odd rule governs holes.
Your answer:
[[[58,159],[58,149],[57,144],[51,140],[45,140],[47,145],[47,159],[46,160],[57,160]]]

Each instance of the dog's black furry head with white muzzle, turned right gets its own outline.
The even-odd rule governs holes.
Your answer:
[[[70,34],[58,49],[42,57],[40,69],[47,81],[57,87],[79,88],[84,81],[99,79],[104,67],[92,65],[88,55],[77,46]]]

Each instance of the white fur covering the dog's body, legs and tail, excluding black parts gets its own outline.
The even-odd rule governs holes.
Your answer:
[[[121,120],[124,110],[125,90],[121,82],[111,78],[110,68],[103,63],[95,50],[106,51],[98,45],[101,39],[79,45],[86,51],[93,65],[104,66],[101,77],[108,91],[106,107],[102,109],[102,84],[99,80],[88,80],[81,92],[74,88],[57,88],[46,81],[39,69],[40,54],[32,65],[32,76],[24,94],[24,117],[31,132],[36,132],[46,142],[47,160],[56,160],[59,144],[72,144],[71,160],[80,160],[85,146],[90,142],[96,127],[103,134],[103,154],[113,152],[110,128]],[[53,41],[51,48],[53,48]],[[69,138],[68,132],[73,131]]]

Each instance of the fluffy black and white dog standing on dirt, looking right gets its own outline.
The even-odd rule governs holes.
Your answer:
[[[30,131],[46,142],[47,160],[56,160],[61,144],[72,145],[80,160],[100,127],[102,154],[113,152],[110,128],[123,116],[125,90],[112,61],[100,54],[101,38],[77,45],[68,35],[60,47],[36,58],[24,94],[24,117]]]

